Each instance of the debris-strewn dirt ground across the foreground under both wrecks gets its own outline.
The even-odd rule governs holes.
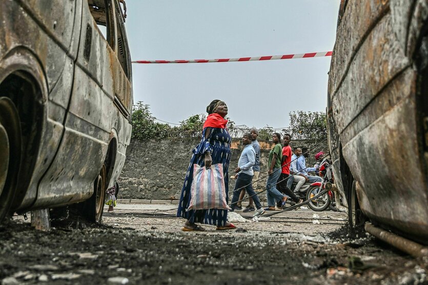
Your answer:
[[[62,221],[50,232],[14,216],[0,232],[2,284],[428,283],[427,260],[370,236],[350,239],[343,213],[299,210],[236,223],[237,230],[189,233],[168,216],[173,208],[119,205],[103,225]],[[153,212],[160,216],[147,216]]]

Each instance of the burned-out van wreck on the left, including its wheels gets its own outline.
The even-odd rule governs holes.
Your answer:
[[[0,221],[78,202],[100,221],[131,137],[120,2],[0,2]]]

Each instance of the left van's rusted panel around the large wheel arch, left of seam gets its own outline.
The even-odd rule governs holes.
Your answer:
[[[36,198],[40,177],[52,161],[62,133],[66,107],[71,91],[73,51],[76,56],[79,29],[75,10],[79,1],[16,1],[2,2],[0,33],[0,82],[15,70],[24,70],[34,76],[42,89],[45,105],[40,147],[32,179],[25,191],[22,205],[31,205]],[[62,5],[64,10],[51,9]],[[67,23],[59,24],[67,20]],[[74,24],[76,23],[76,24]],[[54,27],[55,25],[55,27]],[[75,27],[76,26],[76,27]],[[50,100],[48,100],[48,97]]]

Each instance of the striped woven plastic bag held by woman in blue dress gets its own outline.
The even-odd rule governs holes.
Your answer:
[[[190,186],[190,205],[187,210],[225,209],[230,210],[226,202],[225,177],[223,165],[213,164],[210,168],[193,165],[193,181]]]

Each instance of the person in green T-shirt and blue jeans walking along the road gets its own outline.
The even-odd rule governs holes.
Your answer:
[[[269,170],[268,170],[268,181],[266,182],[266,195],[268,198],[268,207],[264,210],[275,211],[276,201],[281,201],[281,207],[286,205],[287,196],[282,194],[276,189],[276,183],[281,174],[279,168],[281,168],[282,158],[282,147],[281,147],[281,135],[274,133],[272,135],[272,141],[275,143],[272,150],[269,152]]]

